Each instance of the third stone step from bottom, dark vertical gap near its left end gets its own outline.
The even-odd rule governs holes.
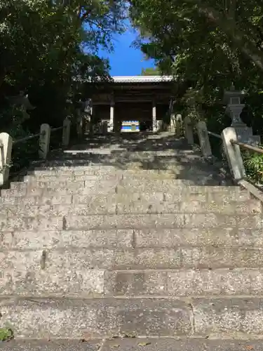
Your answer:
[[[79,274],[81,272],[84,274],[85,270],[90,270],[89,274],[92,275],[91,271],[95,274],[96,270],[259,268],[263,267],[262,253],[262,248],[253,247],[184,246],[173,249],[50,249],[46,251],[45,258],[42,258],[42,250],[0,251],[0,257],[3,275],[5,272],[21,271],[25,272],[29,279],[31,272],[34,284],[35,274],[40,274],[39,279],[40,277],[44,279],[46,275],[49,275],[49,279],[56,279],[52,278],[53,274],[60,276],[60,273],[61,279],[64,279],[63,274],[65,276],[70,274],[72,279],[75,279],[73,273],[76,272],[76,279],[81,279]],[[42,260],[44,260],[43,268]],[[34,272],[35,270],[39,272]],[[104,272],[102,273],[104,277]],[[9,274],[7,278],[12,279]],[[20,274],[18,279],[22,279]]]

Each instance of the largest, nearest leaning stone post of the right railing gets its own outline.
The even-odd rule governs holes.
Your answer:
[[[235,128],[225,128],[221,133],[224,145],[224,153],[227,156],[230,171],[234,180],[241,180],[245,178],[245,167],[240,151],[240,147],[231,143],[231,140],[238,141]]]

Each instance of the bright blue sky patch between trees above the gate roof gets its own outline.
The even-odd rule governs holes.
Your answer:
[[[114,53],[100,51],[100,56],[109,58],[112,76],[136,76],[142,68],[154,67],[153,60],[145,61],[139,49],[130,47],[136,37],[135,29],[127,25],[124,34],[114,36]]]

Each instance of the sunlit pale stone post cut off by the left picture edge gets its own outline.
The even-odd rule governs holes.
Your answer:
[[[2,186],[9,178],[13,139],[8,133],[0,133],[0,143],[0,186]]]

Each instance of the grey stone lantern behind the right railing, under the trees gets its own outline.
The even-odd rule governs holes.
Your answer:
[[[244,97],[243,91],[236,91],[232,86],[229,91],[224,92],[223,104],[227,105],[226,113],[231,117],[231,127],[235,128],[238,141],[258,145],[260,136],[253,135],[252,128],[248,127],[240,117],[245,107],[245,104],[241,103]]]

